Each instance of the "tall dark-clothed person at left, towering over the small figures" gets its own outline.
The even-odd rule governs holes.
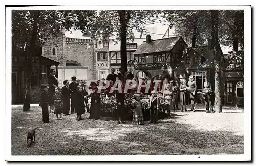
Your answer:
[[[49,104],[51,106],[50,112],[54,113],[54,101],[52,100],[52,97],[55,93],[55,88],[59,86],[59,82],[57,78],[54,76],[55,75],[55,70],[50,69],[50,75],[48,76],[48,95],[49,95]]]

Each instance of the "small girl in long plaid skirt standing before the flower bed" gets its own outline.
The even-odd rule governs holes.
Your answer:
[[[143,125],[144,120],[143,120],[143,113],[142,113],[141,101],[140,101],[140,95],[139,94],[134,94],[133,95],[132,105],[134,107],[133,124]]]

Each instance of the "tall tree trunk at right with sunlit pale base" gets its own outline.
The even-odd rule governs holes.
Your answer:
[[[215,67],[215,111],[222,112],[222,100],[221,100],[221,56],[219,51],[219,38],[218,38],[218,10],[210,10],[211,13],[211,37],[212,37],[212,46],[214,53],[214,67]]]

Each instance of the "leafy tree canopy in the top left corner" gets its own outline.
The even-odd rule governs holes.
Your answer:
[[[12,11],[12,46],[16,49],[30,46],[33,32],[33,22],[36,10],[13,10]],[[63,33],[63,28],[71,30],[75,25],[75,30],[86,29],[92,25],[96,11],[58,11],[40,10],[37,19],[36,46],[41,47],[49,36],[58,36]],[[83,19],[81,19],[81,16]],[[78,22],[82,20],[82,22]]]

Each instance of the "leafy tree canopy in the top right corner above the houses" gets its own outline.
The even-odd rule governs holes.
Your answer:
[[[165,10],[163,18],[175,26],[177,35],[182,35],[191,45],[194,26],[197,26],[196,45],[203,45],[206,39],[211,38],[211,17],[209,10]],[[244,11],[220,10],[218,13],[219,43],[224,46],[232,46],[235,26],[235,18],[238,27],[238,43],[244,47]]]

